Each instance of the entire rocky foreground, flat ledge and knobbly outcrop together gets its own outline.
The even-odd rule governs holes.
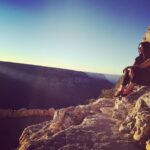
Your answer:
[[[150,87],[62,108],[27,127],[18,150],[150,150]]]

